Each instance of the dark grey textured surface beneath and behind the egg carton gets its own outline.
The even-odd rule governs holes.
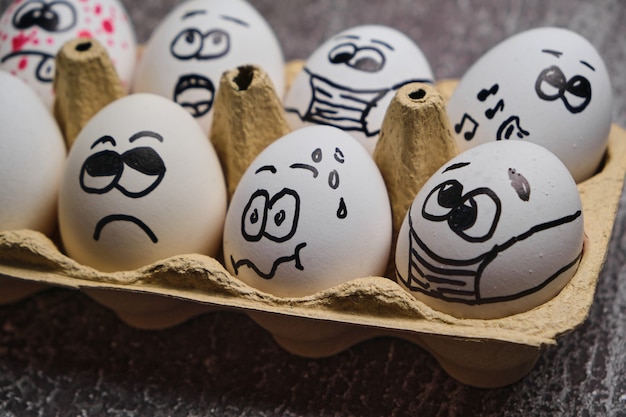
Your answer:
[[[175,3],[126,0],[140,41]],[[626,126],[626,2],[253,0],[288,59],[337,31],[405,31],[437,78],[460,77],[505,37],[558,25],[609,68],[614,122]],[[0,10],[7,7],[0,0]],[[0,307],[2,416],[626,416],[626,201],[588,320],[546,349],[522,381],[480,390],[401,340],[305,359],[244,315],[210,313],[164,331],[126,326],[85,295],[53,289]]]

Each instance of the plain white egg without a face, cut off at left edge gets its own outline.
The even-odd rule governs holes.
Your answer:
[[[65,142],[35,91],[0,71],[0,230],[51,234]]]

